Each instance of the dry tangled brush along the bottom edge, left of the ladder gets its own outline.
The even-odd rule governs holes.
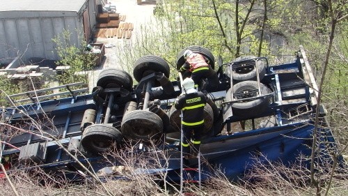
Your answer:
[[[80,180],[72,182],[64,176],[64,172],[69,171],[58,171],[61,175],[47,174],[37,167],[29,171],[8,172],[15,190],[6,179],[2,179],[0,195],[15,195],[15,192],[18,195],[168,195],[168,189],[163,186],[166,172],[149,173],[153,169],[166,169],[168,159],[165,151],[154,151],[155,146],[149,148],[150,151],[139,151],[135,146],[129,144],[122,149],[115,148],[104,155],[106,161],[115,165],[109,168],[109,173],[95,171],[103,183],[84,170],[76,172]]]

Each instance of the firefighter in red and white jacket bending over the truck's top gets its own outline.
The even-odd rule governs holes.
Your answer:
[[[184,72],[189,69],[191,72],[191,79],[195,82],[196,88],[200,80],[205,79],[209,75],[209,59],[199,53],[186,50],[184,52],[184,59],[186,59],[184,65],[180,68],[180,72]],[[200,90],[205,89],[200,87]]]

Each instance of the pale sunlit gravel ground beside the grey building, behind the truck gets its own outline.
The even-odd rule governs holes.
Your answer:
[[[155,5],[138,5],[136,0],[109,0],[112,4],[116,5],[116,13],[120,15],[126,15],[125,22],[132,22],[134,24],[134,30],[130,39],[125,38],[95,38],[95,43],[104,43],[112,45],[123,45],[126,42],[134,43],[136,41],[136,34],[141,31],[141,25],[147,24],[153,19],[153,9]],[[120,68],[118,66],[118,50],[120,47],[105,48],[105,56],[102,64],[99,68],[88,73],[89,77],[89,89],[90,91],[97,83],[97,77],[101,70],[105,68]]]

